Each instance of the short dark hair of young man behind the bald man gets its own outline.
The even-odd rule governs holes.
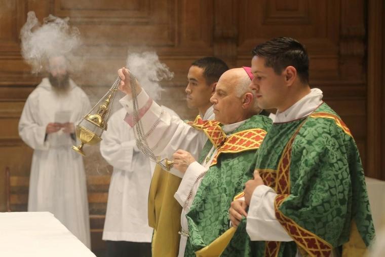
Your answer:
[[[208,85],[218,82],[219,77],[228,70],[227,64],[221,59],[213,56],[203,57],[194,61],[191,66],[203,68],[203,77]]]

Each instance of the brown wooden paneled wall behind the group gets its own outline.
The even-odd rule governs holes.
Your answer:
[[[82,66],[73,78],[92,101],[117,77],[128,50],[156,51],[175,73],[163,83],[161,102],[184,119],[196,115],[184,101],[186,73],[195,59],[215,55],[232,67],[250,65],[258,43],[275,36],[296,38],[310,54],[311,85],[323,90],[325,101],[351,128],[366,174],[385,179],[381,0],[0,0],[0,6],[0,169],[11,168],[15,210],[26,209],[32,154],[18,137],[17,124],[26,97],[41,80],[20,55],[19,31],[31,10],[40,20],[68,16],[79,28],[84,45],[76,59]],[[92,239],[98,251],[111,167],[97,147],[88,151]],[[0,210],[5,210],[3,191]]]

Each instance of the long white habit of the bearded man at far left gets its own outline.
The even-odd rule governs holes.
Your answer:
[[[91,106],[87,95],[69,81],[66,94],[57,94],[49,80],[28,96],[19,122],[19,135],[34,151],[29,182],[28,211],[49,211],[91,247],[86,174],[82,156],[71,146],[69,134],[46,135],[55,114],[67,111],[69,122],[78,123]]]

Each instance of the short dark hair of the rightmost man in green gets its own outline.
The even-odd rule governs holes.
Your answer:
[[[281,74],[287,66],[293,66],[302,83],[309,82],[309,56],[305,47],[292,38],[275,38],[256,46],[253,56],[265,59],[265,66]]]

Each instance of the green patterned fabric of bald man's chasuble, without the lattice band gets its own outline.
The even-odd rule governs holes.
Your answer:
[[[231,134],[253,128],[267,131],[271,123],[269,118],[256,115]],[[208,140],[202,150],[200,163],[211,148],[212,143]],[[243,191],[245,182],[253,176],[256,152],[257,150],[236,154],[222,153],[217,164],[209,168],[186,214],[189,237],[184,256],[195,256],[197,250],[210,244],[229,228],[228,209],[233,198]],[[243,223],[222,255],[249,256],[250,253],[250,240]]]

